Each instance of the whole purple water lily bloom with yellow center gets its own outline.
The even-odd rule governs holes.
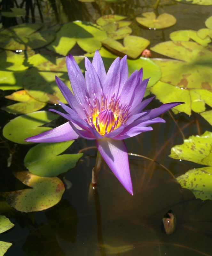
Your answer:
[[[56,82],[71,108],[59,102],[68,114],[50,110],[65,117],[68,122],[26,141],[60,142],[80,137],[96,140],[105,162],[133,195],[127,148],[123,140],[153,130],[150,126],[146,127],[149,124],[165,123],[156,116],[184,102],[167,103],[141,112],[154,97],[142,101],[149,79],[142,81],[142,68],[128,78],[126,55],[121,60],[117,57],[106,74],[97,50],[92,63],[85,58],[85,78],[72,55],[67,57],[66,63],[74,94],[57,76]]]

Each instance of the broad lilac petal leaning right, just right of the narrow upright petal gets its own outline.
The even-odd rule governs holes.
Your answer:
[[[135,70],[131,76],[127,79],[126,83],[123,86],[121,97],[120,97],[120,104],[129,104],[132,98],[132,95],[135,91],[137,82],[137,70]]]

